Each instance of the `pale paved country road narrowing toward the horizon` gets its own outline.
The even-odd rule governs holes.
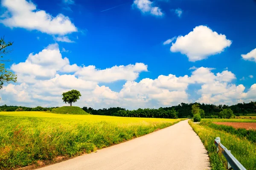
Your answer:
[[[39,170],[206,170],[209,157],[188,120]]]

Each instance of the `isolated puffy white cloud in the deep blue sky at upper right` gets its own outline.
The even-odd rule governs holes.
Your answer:
[[[195,62],[221,53],[231,43],[224,34],[218,34],[207,26],[197,26],[184,37],[177,37],[170,50],[185,54],[189,61]]]

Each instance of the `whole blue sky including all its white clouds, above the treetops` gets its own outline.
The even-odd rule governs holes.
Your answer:
[[[73,88],[77,105],[94,108],[249,102],[255,21],[253,0],[1,0],[1,36],[15,42],[6,67],[18,82],[0,104],[64,105]]]

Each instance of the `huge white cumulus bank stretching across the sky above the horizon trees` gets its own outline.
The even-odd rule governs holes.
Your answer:
[[[159,108],[181,102],[230,105],[256,99],[256,84],[245,92],[244,85],[233,83],[236,75],[228,70],[216,73],[214,68],[193,67],[190,75],[159,75],[156,79],[143,78],[137,82],[139,74],[148,71],[144,63],[105,69],[71,65],[69,59],[62,57],[58,44],[29,54],[25,62],[14,64],[11,69],[18,74],[18,83],[3,86],[1,98],[6,105],[62,106],[61,94],[72,89],[82,95],[76,105],[93,108]],[[106,85],[118,80],[125,81],[119,91]],[[200,88],[192,90],[189,85]],[[191,91],[200,96],[189,99]]]

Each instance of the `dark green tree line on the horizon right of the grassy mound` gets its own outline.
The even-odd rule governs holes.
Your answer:
[[[235,116],[246,115],[248,113],[256,113],[256,102],[250,103],[239,103],[236,105],[212,105],[212,104],[200,104],[200,103],[181,103],[180,105],[159,108],[159,109],[137,109],[133,111],[126,110],[125,108],[104,108],[95,110],[93,108],[83,107],[82,109],[87,113],[94,115],[105,115],[105,116],[128,116],[128,117],[157,117],[166,118],[169,111],[175,110],[178,118],[193,117],[192,105],[198,105],[199,113],[201,118],[227,118],[231,110]],[[226,109],[226,110],[225,110]],[[157,112],[159,112],[157,114]],[[162,116],[160,116],[162,115]]]

